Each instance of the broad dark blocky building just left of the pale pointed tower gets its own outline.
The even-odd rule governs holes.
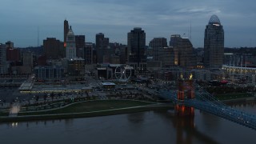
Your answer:
[[[43,52],[46,59],[64,58],[63,42],[56,38],[46,38],[43,40]]]

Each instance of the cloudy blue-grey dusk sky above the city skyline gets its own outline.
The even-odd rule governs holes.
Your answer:
[[[216,14],[225,31],[226,47],[256,46],[254,0],[1,0],[0,42],[14,47],[42,45],[43,39],[63,41],[63,21],[74,34],[95,42],[103,33],[110,42],[127,44],[134,27],[146,32],[146,45],[153,38],[171,34],[188,37],[203,47],[204,30]]]

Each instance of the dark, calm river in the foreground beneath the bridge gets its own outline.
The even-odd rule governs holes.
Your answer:
[[[234,108],[256,114],[256,103]],[[173,110],[96,118],[0,123],[0,143],[256,143],[256,131],[195,110],[178,118]]]

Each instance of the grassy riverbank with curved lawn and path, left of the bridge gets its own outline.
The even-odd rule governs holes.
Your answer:
[[[39,112],[31,113],[20,113],[17,117],[0,117],[0,122],[21,122],[21,121],[37,121],[37,120],[49,120],[49,119],[62,119],[62,118],[88,118],[88,117],[98,117],[114,114],[129,114],[137,113],[142,111],[149,110],[169,110],[173,109],[174,106],[171,104],[159,104],[154,102],[142,102],[142,101],[133,101],[133,100],[98,100],[98,106],[94,105],[91,109],[81,107],[82,102],[74,103],[70,106],[58,110],[46,110]],[[102,105],[102,102],[106,102],[105,105]],[[109,105],[111,102],[115,104],[120,102],[118,106]],[[126,105],[120,107],[123,102],[126,102]],[[96,102],[97,103],[97,102]],[[127,104],[128,103],[128,104]],[[95,102],[94,102],[95,104]],[[113,103],[112,103],[113,104]],[[77,105],[77,106],[76,106]],[[90,107],[90,106],[89,106]],[[74,110],[72,112],[70,110]],[[87,110],[87,111],[86,111]]]

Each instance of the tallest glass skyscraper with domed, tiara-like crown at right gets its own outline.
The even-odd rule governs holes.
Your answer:
[[[224,57],[224,30],[217,15],[212,15],[206,26],[204,38],[204,65],[221,68]]]

